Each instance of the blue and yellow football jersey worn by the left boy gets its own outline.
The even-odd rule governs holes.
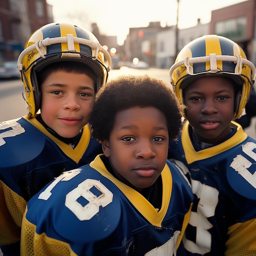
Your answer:
[[[20,227],[27,201],[63,171],[90,163],[101,144],[88,125],[73,149],[28,116],[0,123],[0,245],[7,255],[20,255]],[[9,246],[7,246],[9,245]]]

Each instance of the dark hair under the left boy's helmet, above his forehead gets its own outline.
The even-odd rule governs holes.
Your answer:
[[[54,72],[58,71],[64,71],[67,73],[73,73],[73,74],[85,74],[89,76],[93,80],[94,89],[96,90],[96,74],[92,70],[91,67],[84,63],[76,62],[76,61],[58,61],[51,63],[43,68],[40,72],[37,72],[37,82],[38,86],[40,88],[41,84],[45,81],[47,76]]]

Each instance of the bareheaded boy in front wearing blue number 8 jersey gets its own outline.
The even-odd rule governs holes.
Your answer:
[[[166,162],[183,107],[168,84],[147,75],[103,86],[89,123],[104,155],[29,200],[21,254],[176,255],[194,198],[182,171]]]

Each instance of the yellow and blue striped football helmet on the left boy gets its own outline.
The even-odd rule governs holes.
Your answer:
[[[105,60],[108,67],[105,66]],[[92,68],[97,76],[97,88],[108,79],[111,57],[89,30],[71,23],[50,23],[34,31],[18,57],[18,70],[25,88],[30,116],[40,108],[40,90],[36,78],[45,66],[58,61],[77,61]]]

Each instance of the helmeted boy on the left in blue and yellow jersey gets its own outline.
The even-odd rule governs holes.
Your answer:
[[[35,31],[18,58],[28,115],[2,122],[0,245],[20,255],[27,201],[63,171],[102,152],[87,125],[94,94],[104,85],[108,52],[87,29],[51,23]]]

